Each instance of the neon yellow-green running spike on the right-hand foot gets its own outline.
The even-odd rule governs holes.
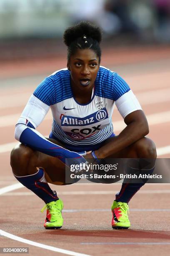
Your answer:
[[[112,228],[114,229],[127,229],[130,227],[128,219],[129,207],[125,202],[113,202],[112,205]]]

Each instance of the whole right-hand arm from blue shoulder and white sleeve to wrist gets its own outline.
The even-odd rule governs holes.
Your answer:
[[[118,74],[116,74],[112,83],[113,100],[115,100],[115,105],[127,126],[118,136],[112,138],[107,145],[95,151],[98,158],[110,156],[149,133],[148,121],[128,84]]]

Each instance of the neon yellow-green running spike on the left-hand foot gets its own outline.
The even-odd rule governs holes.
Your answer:
[[[62,200],[52,201],[46,204],[41,212],[45,210],[47,207],[47,217],[45,219],[44,227],[46,229],[59,229],[62,227],[63,218],[61,215],[61,211],[63,208]]]

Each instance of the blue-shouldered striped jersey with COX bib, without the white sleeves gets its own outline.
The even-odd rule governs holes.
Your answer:
[[[115,101],[129,90],[128,84],[117,73],[100,67],[91,101],[80,104],[72,93],[70,71],[61,69],[46,77],[33,95],[50,106],[53,115],[52,133],[56,139],[83,146],[95,145],[110,137],[113,133],[111,118]],[[70,110],[65,111],[65,108]],[[63,119],[65,117],[68,118]],[[82,127],[69,123],[69,120],[83,123],[88,117],[92,124]]]

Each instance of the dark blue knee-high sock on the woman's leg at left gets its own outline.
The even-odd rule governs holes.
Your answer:
[[[38,172],[35,174],[22,177],[15,176],[15,178],[40,197],[46,204],[58,200],[56,192],[50,189],[42,168],[39,168]]]

